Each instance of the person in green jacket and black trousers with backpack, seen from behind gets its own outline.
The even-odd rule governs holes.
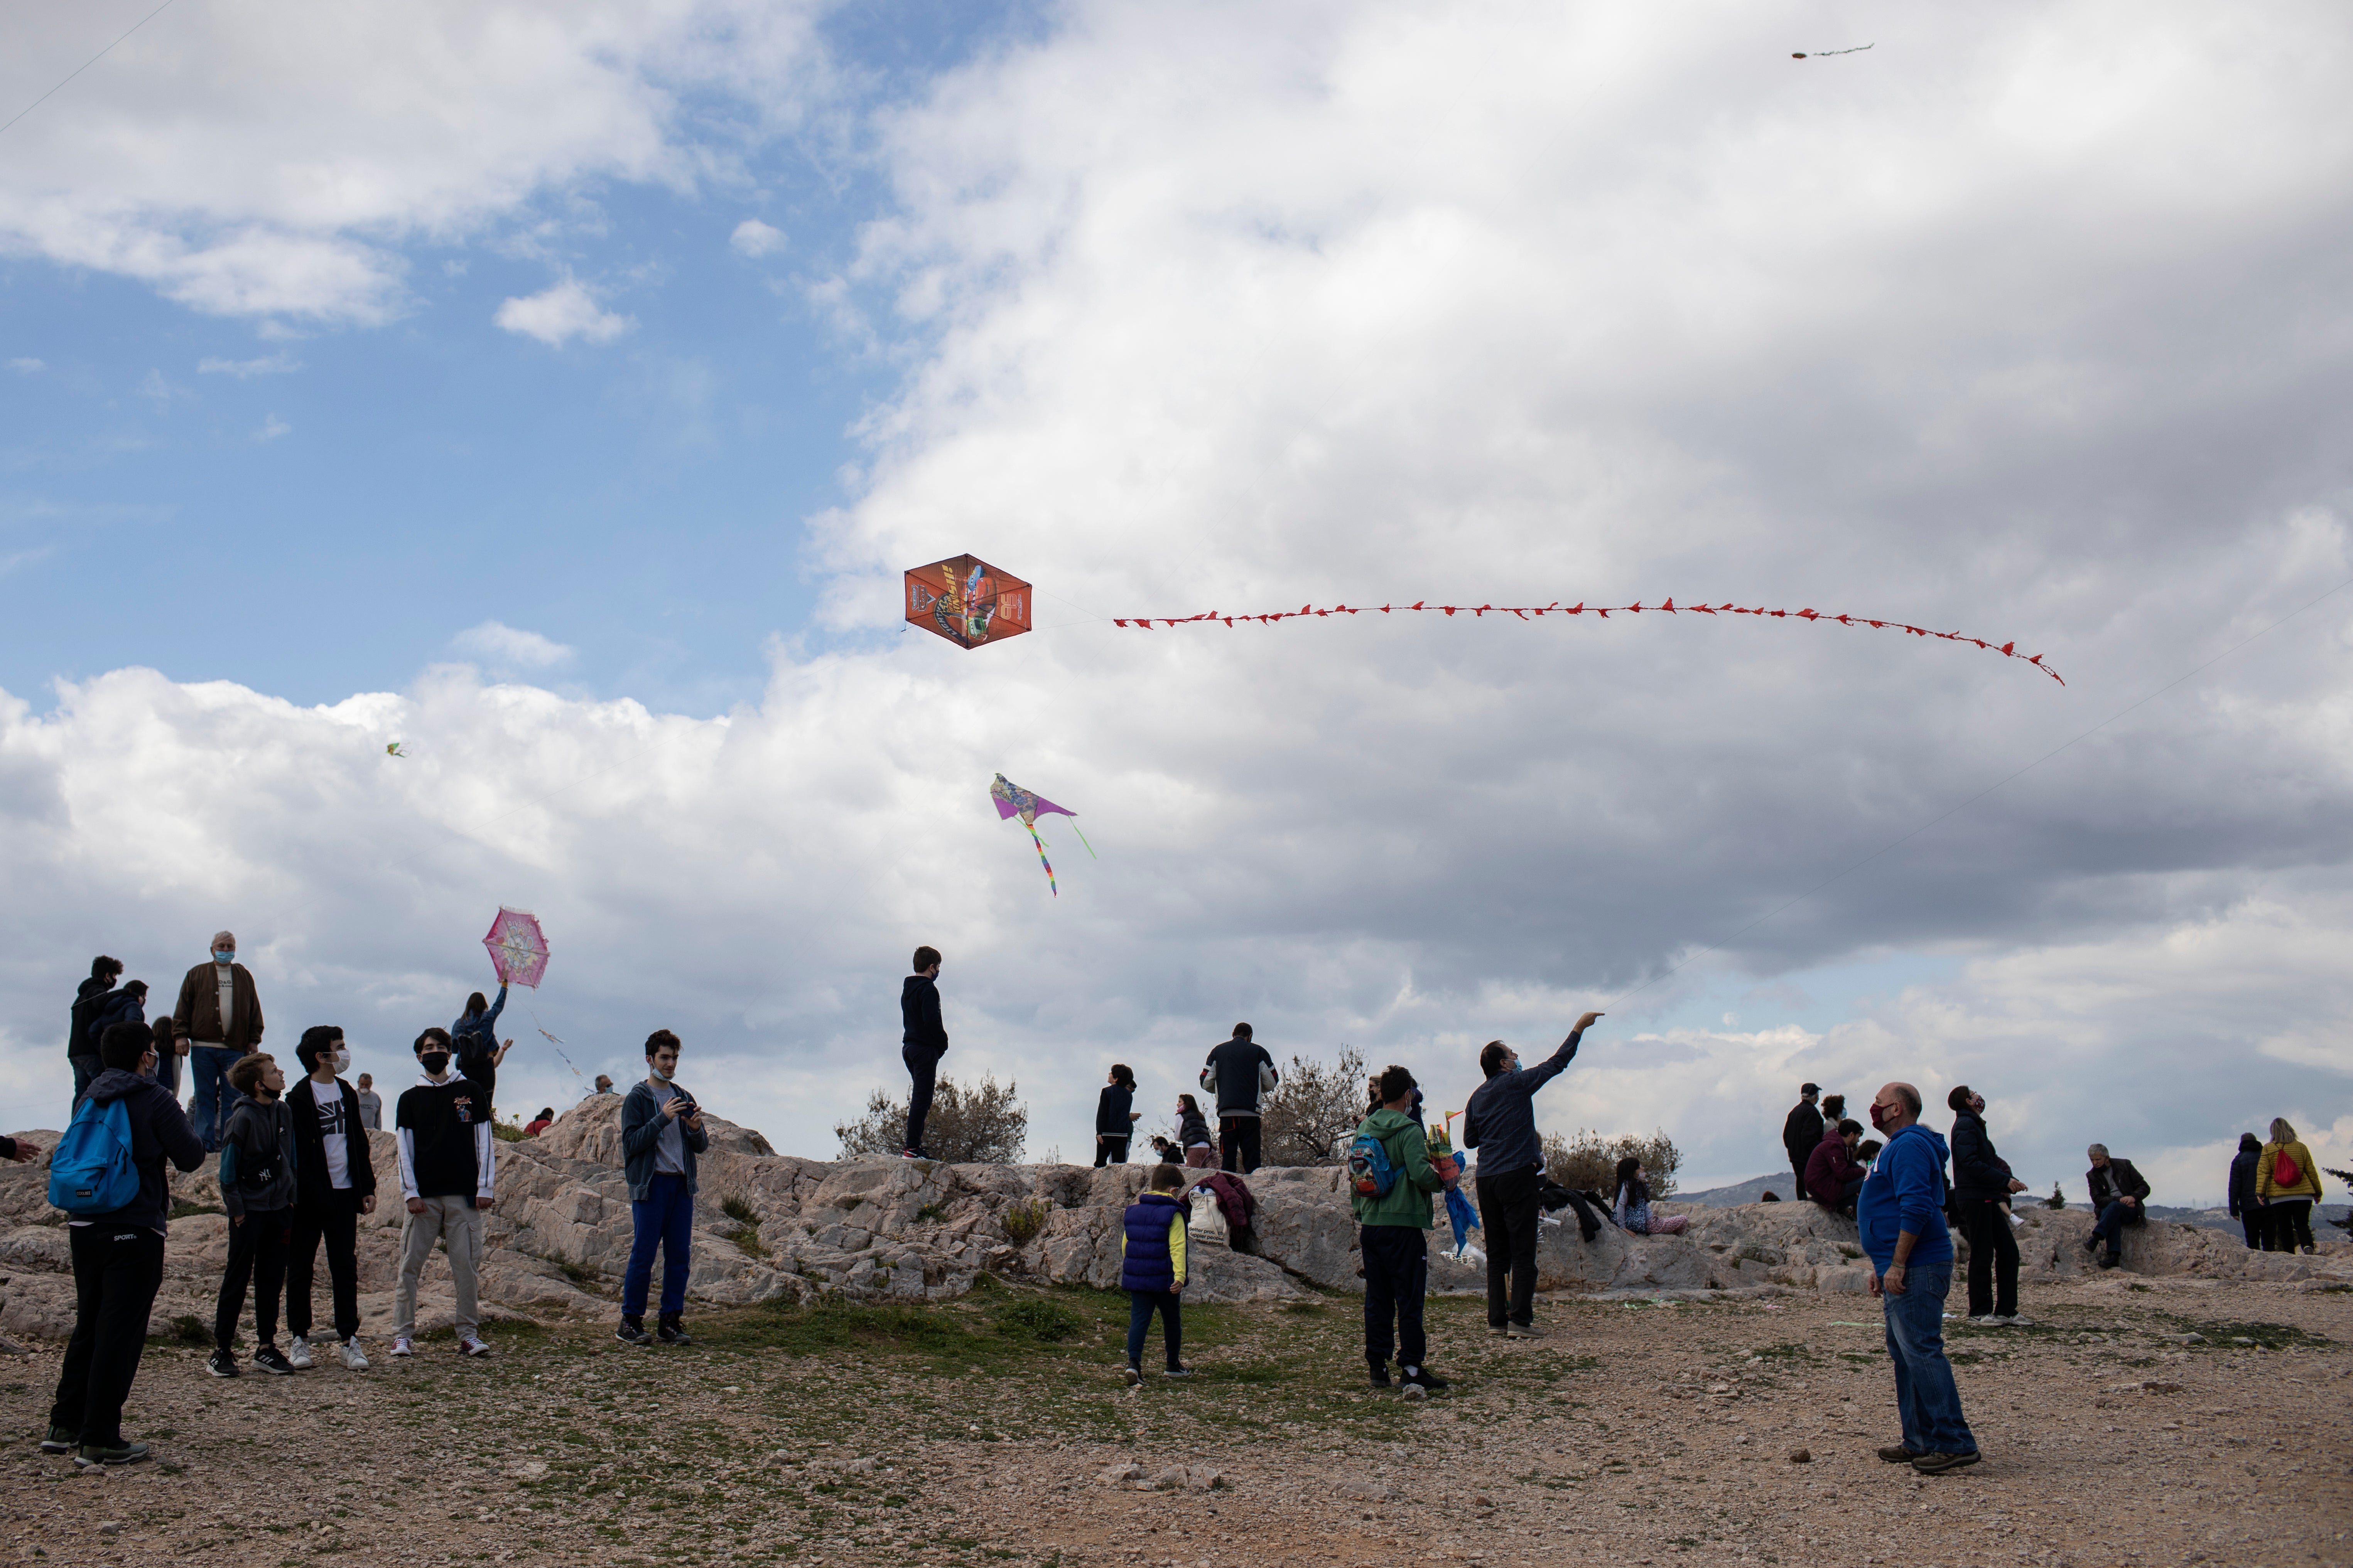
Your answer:
[[[1424,1366],[1421,1298],[1431,1288],[1431,1194],[1447,1182],[1431,1166],[1431,1145],[1414,1117],[1414,1074],[1386,1067],[1374,1079],[1379,1105],[1348,1143],[1348,1206],[1355,1211],[1365,1260],[1365,1361],[1372,1387],[1388,1387],[1388,1354],[1398,1352],[1405,1389],[1424,1394],[1447,1380]]]

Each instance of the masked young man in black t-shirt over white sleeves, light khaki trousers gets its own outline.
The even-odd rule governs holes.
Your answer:
[[[416,1279],[433,1244],[449,1253],[456,1288],[456,1349],[487,1356],[475,1286],[482,1267],[482,1215],[496,1201],[489,1192],[499,1173],[499,1145],[489,1135],[489,1093],[449,1072],[449,1032],[416,1037],[421,1077],[393,1105],[400,1138],[400,1197],[409,1218],[400,1227],[400,1288],[393,1293],[393,1354],[416,1354]]]

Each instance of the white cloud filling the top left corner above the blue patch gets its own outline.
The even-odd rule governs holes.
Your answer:
[[[144,280],[195,310],[381,322],[414,237],[464,237],[584,179],[725,169],[699,99],[753,136],[816,71],[814,5],[424,0],[200,7],[141,28],[9,129],[0,247]],[[0,94],[87,49],[78,9],[14,19]]]

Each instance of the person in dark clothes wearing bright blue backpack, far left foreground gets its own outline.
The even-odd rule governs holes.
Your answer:
[[[49,1204],[66,1211],[73,1251],[73,1340],[49,1403],[42,1453],[71,1453],[80,1467],[132,1465],[146,1443],[122,1441],[146,1319],[162,1286],[162,1237],[172,1222],[169,1159],[181,1171],[205,1161],[179,1100],[146,1072],[172,1046],[172,1020],[153,1030],[111,1027],[99,1041],[99,1077],[49,1157]]]

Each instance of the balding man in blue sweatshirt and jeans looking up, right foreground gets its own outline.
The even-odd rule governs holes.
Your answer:
[[[1941,1476],[1977,1465],[1977,1436],[1960,1415],[1960,1387],[1944,1359],[1944,1300],[1953,1293],[1953,1237],[1944,1225],[1944,1138],[1920,1126],[1920,1091],[1885,1084],[1871,1126],[1887,1135],[1854,1215],[1871,1255],[1871,1293],[1887,1312],[1887,1359],[1897,1366],[1904,1441],[1880,1448],[1889,1465]]]

